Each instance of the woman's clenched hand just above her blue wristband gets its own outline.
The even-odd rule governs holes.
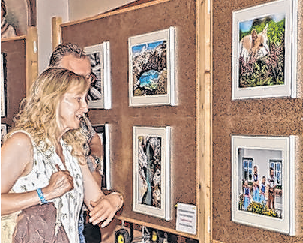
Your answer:
[[[42,189],[46,200],[62,196],[74,188],[73,177],[68,170],[60,170],[56,164],[57,172],[53,173],[49,179],[49,184]]]

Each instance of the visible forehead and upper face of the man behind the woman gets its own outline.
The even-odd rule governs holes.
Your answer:
[[[91,79],[89,78],[91,65],[88,58],[76,58],[73,55],[67,55],[62,58],[60,67],[86,77],[89,84],[91,84]]]

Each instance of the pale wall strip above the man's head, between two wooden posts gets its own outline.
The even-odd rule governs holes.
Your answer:
[[[37,1],[38,73],[48,66],[52,53],[52,17],[59,16],[68,22],[68,0]]]

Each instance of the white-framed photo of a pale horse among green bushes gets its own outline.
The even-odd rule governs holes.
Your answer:
[[[232,99],[296,97],[297,0],[234,11]]]

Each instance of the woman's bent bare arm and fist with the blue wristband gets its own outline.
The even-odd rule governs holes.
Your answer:
[[[1,214],[7,215],[37,205],[40,199],[36,191],[9,193],[21,176],[27,175],[33,165],[33,148],[24,133],[13,134],[1,148]],[[68,171],[58,171],[42,192],[46,200],[59,197],[73,188]]]

